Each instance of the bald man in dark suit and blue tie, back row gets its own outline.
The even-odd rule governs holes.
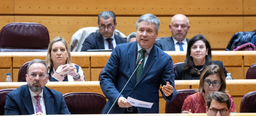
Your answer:
[[[183,14],[176,14],[169,24],[171,37],[162,38],[155,42],[163,51],[187,51],[188,41],[186,38],[190,28],[188,18]]]

